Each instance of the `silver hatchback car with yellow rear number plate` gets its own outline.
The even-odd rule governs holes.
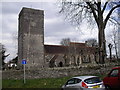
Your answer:
[[[104,88],[104,85],[98,76],[78,76],[69,79],[62,86],[62,90],[86,90],[88,88]]]

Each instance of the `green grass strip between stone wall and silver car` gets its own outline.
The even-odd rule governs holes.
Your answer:
[[[105,75],[96,75],[101,77]],[[46,79],[28,79],[26,84],[23,84],[23,80],[4,79],[2,81],[3,88],[61,88],[70,77],[64,78],[46,78]]]

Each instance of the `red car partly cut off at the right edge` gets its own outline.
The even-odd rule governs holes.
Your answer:
[[[112,68],[108,75],[103,79],[105,88],[120,88],[120,67]]]

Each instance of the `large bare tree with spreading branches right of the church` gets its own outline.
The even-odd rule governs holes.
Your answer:
[[[120,7],[120,1],[110,0],[62,0],[60,13],[64,13],[66,18],[73,24],[80,25],[84,20],[88,23],[96,24],[98,27],[99,62],[104,63],[106,57],[105,28],[110,20],[113,11]],[[106,17],[104,13],[108,12]],[[113,18],[114,19],[114,18]]]

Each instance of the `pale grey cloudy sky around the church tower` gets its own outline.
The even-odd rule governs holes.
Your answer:
[[[64,20],[64,16],[58,13],[59,8],[56,2],[3,2],[0,3],[0,43],[4,44],[11,60],[17,53],[18,15],[23,7],[44,10],[44,43],[55,45],[60,44],[61,39],[70,38],[72,41],[85,42],[88,38],[97,39],[97,28],[88,30],[86,23],[83,23],[81,30]],[[110,29],[111,27],[109,27]],[[108,32],[107,32],[108,33]]]

